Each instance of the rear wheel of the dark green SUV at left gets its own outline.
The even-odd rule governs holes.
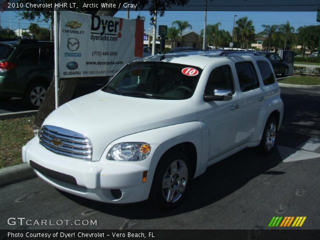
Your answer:
[[[38,108],[44,101],[47,88],[48,84],[44,82],[31,82],[25,91],[25,103],[32,108]]]

